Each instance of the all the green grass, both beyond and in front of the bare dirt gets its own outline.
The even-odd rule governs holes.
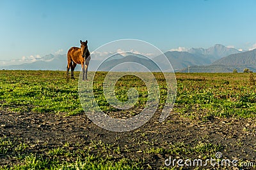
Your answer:
[[[154,73],[159,83],[160,103],[158,110],[164,106],[166,99],[166,82],[163,74]],[[89,81],[92,73],[88,74]],[[106,73],[99,73],[93,83],[95,99],[100,109],[109,115],[121,114],[120,110],[109,106],[102,92],[102,81]],[[218,119],[255,120],[256,117],[256,91],[255,74],[249,73],[177,73],[177,98],[170,113],[188,122],[211,122]],[[33,113],[57,114],[61,117],[74,117],[84,115],[83,108],[77,93],[79,72],[75,73],[76,80],[67,81],[64,71],[0,71],[0,111],[4,113]],[[124,114],[134,116],[138,110],[143,109],[147,102],[147,87],[145,83],[134,76],[124,76],[116,83],[116,96],[120,101],[127,100],[127,90],[136,87],[139,100],[133,110]],[[129,115],[130,114],[130,115]],[[172,124],[167,120],[164,125]],[[4,128],[4,125],[2,125]],[[154,131],[151,130],[151,131]],[[148,132],[133,131],[147,138]],[[50,147],[43,143],[40,150],[34,150],[35,144],[15,136],[0,136],[0,161],[6,161],[0,169],[155,169],[148,164],[148,154],[164,157],[168,154],[189,157],[202,155],[209,157],[218,151],[223,151],[224,144],[209,141],[194,141],[189,145],[186,141],[172,144],[158,145],[157,139],[145,142],[136,141],[136,146],[107,143],[102,141],[86,141],[68,143]],[[34,148],[33,148],[34,147]],[[241,144],[243,147],[243,144]],[[142,156],[133,157],[133,153]],[[123,153],[127,154],[124,157]],[[160,169],[168,169],[162,165]],[[177,167],[173,167],[175,169]],[[171,168],[170,168],[171,169]],[[182,169],[182,168],[180,168]]]

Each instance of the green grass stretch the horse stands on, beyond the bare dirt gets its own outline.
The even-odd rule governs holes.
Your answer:
[[[83,113],[77,94],[77,81],[66,81],[63,71],[1,71],[1,110],[35,113]],[[104,111],[115,111],[102,95],[102,81],[106,73],[97,74],[93,90]],[[78,79],[79,73],[76,73]],[[90,77],[90,73],[89,73]],[[175,111],[188,117],[255,117],[256,92],[250,75],[246,73],[177,73]],[[156,73],[161,90],[160,105],[164,104],[165,81]],[[116,96],[127,99],[127,89],[137,87],[143,107],[147,87],[136,77],[125,76],[116,83]],[[166,96],[165,96],[166,97]],[[159,106],[161,108],[161,106]],[[196,111],[200,111],[200,115]],[[191,115],[195,111],[195,115]]]

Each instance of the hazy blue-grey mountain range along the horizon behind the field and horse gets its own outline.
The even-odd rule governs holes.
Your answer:
[[[256,49],[240,52],[236,48],[216,44],[210,48],[191,48],[187,52],[168,51],[164,55],[172,64],[175,71],[179,72],[232,72],[233,69],[241,72],[244,68],[256,71]],[[163,60],[163,55],[152,58],[163,71],[168,71],[170,66]],[[97,57],[98,59],[100,57]],[[101,66],[102,60],[91,59],[88,70],[95,71],[99,66],[99,71],[108,71],[109,69],[123,62],[137,62],[150,68],[151,71],[159,71],[159,68],[152,60],[136,55],[122,56],[118,55],[115,59],[106,60]],[[38,57],[33,62],[0,66],[0,69],[36,69],[36,70],[66,70],[67,55],[45,55]],[[129,66],[129,69],[143,71],[138,66]],[[76,67],[77,71],[81,66]],[[124,70],[127,71],[127,70]]]

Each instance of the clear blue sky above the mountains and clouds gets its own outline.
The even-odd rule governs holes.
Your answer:
[[[124,38],[161,50],[216,43],[248,50],[256,44],[255,9],[253,0],[0,0],[0,60],[67,53],[80,39],[91,51]]]

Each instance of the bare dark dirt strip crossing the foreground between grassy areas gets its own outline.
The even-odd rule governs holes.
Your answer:
[[[141,136],[141,134],[145,134]],[[124,153],[124,157],[145,159],[143,164],[152,169],[164,167],[164,160],[170,155],[143,154],[139,150],[147,145],[142,141],[154,141],[154,146],[165,147],[168,143],[204,142],[221,145],[223,157],[256,162],[256,124],[255,120],[239,118],[212,118],[207,122],[181,118],[172,113],[167,120],[159,123],[152,118],[147,124],[130,132],[110,132],[93,124],[86,115],[64,117],[53,113],[0,113],[0,137],[19,139],[36,147],[29,152],[40,153],[47,143],[47,147],[56,148],[64,143],[81,143],[88,141],[102,141],[120,148],[128,147],[131,152]],[[185,155],[198,157],[198,155]],[[185,157],[184,156],[184,157]],[[0,166],[15,162],[12,157],[0,155]]]

